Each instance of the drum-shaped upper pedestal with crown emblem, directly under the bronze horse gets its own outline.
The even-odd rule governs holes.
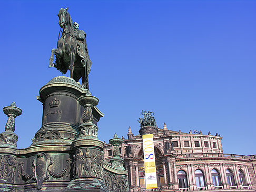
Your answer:
[[[54,77],[40,89],[37,97],[43,103],[42,127],[35,134],[34,145],[71,144],[79,135],[83,108],[78,103],[87,89],[69,77]]]

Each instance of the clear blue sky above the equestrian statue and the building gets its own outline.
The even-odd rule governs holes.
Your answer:
[[[41,127],[39,89],[61,73],[48,68],[57,13],[69,6],[87,34],[90,89],[105,114],[99,139],[139,134],[141,110],[157,125],[223,136],[224,153],[256,154],[256,1],[2,1],[1,100],[23,110],[18,148]],[[68,76],[69,73],[66,74]],[[0,113],[0,132],[7,116]]]

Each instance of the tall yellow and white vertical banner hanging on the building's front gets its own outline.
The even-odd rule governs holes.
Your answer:
[[[142,135],[146,189],[157,188],[153,134]]]

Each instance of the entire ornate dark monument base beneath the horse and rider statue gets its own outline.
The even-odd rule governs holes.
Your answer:
[[[99,99],[69,77],[50,80],[37,99],[43,103],[42,127],[26,149],[17,149],[14,133],[22,110],[15,103],[3,109],[8,120],[0,134],[0,190],[129,191],[127,171],[105,161],[97,138],[104,115],[96,107]]]

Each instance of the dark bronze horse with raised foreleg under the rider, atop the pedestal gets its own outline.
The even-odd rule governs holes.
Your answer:
[[[81,55],[77,53],[77,40],[75,37],[73,22],[68,8],[61,8],[58,13],[58,24],[63,28],[62,36],[58,39],[57,48],[52,49],[49,67],[56,67],[62,74],[70,70],[70,77],[76,82],[82,78],[82,85],[89,89],[88,74],[91,70],[91,60],[86,55],[86,63],[82,64]],[[87,48],[87,47],[86,47]],[[53,55],[56,56],[55,64],[53,64]]]

